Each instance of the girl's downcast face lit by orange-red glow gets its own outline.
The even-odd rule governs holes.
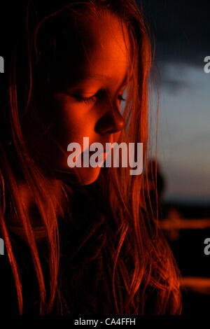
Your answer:
[[[129,76],[130,43],[126,27],[109,13],[88,20],[79,30],[83,46],[72,49],[77,60],[72,62],[71,56],[66,65],[71,82],[44,104],[50,109],[50,133],[56,144],[43,141],[42,146],[57,173],[73,171],[79,183],[87,185],[97,179],[101,168],[83,167],[82,162],[82,167],[71,169],[67,146],[76,142],[83,152],[83,137],[89,137],[89,145],[99,142],[105,150],[106,143],[118,141],[124,125],[120,102]]]

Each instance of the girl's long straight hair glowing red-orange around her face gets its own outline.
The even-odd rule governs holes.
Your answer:
[[[103,9],[117,15],[127,25],[129,32],[132,80],[127,87],[127,102],[123,112],[125,129],[120,134],[119,142],[132,142],[135,145],[143,143],[145,169],[144,174],[131,176],[129,168],[102,168],[95,184],[106,204],[104,221],[109,238],[103,245],[106,246],[113,311],[116,314],[144,314],[151,295],[155,295],[153,313],[165,314],[169,311],[170,314],[179,314],[181,311],[179,270],[165,238],[158,230],[157,211],[153,211],[151,202],[150,207],[146,206],[146,195],[149,196],[148,156],[151,141],[148,109],[153,56],[144,16],[134,0],[69,0],[52,1],[50,10],[41,1],[29,1],[25,6],[22,11],[24,19],[20,19],[20,31],[13,31],[15,41],[10,50],[8,90],[5,102],[1,104],[1,125],[3,123],[4,126],[0,143],[1,232],[15,279],[20,314],[24,311],[25,301],[22,298],[20,269],[10,241],[7,215],[13,211],[15,217],[19,218],[22,234],[29,246],[39,286],[40,314],[49,314],[55,296],[59,295],[58,217],[64,216],[59,200],[50,191],[49,180],[31,157],[22,123],[26,121],[32,125],[34,120],[38,120],[34,109],[36,106],[32,106],[34,99],[36,103],[34,85],[36,87],[37,81],[41,86],[42,83],[62,83],[64,77],[59,74],[64,70],[60,67],[57,69],[56,63],[64,56],[61,49],[64,46],[62,41],[67,40],[66,36],[70,35],[72,42],[77,37],[76,19],[83,20],[88,18],[85,13],[96,15]],[[65,60],[62,59],[59,64],[62,65],[62,62]],[[40,124],[42,133],[47,134],[48,127]],[[45,232],[50,282],[48,293],[36,231],[27,217],[24,200],[19,194],[19,176],[29,187]],[[64,181],[60,181],[60,184],[71,207],[71,184]],[[97,211],[99,214],[100,209]]]

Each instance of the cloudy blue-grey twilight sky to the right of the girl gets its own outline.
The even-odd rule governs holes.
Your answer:
[[[210,202],[210,1],[144,0],[160,83],[158,160],[166,200]]]

